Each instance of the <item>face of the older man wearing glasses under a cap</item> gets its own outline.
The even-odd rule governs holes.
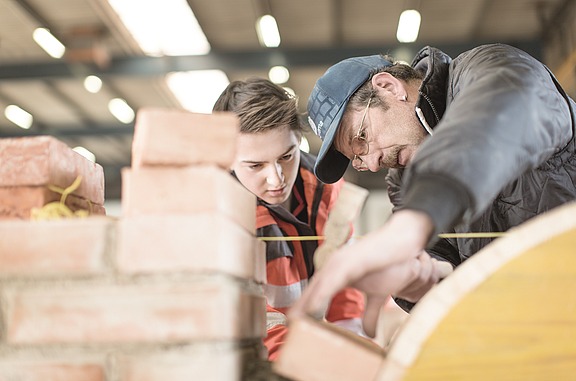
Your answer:
[[[415,115],[414,103],[397,100],[388,103],[388,110],[379,106],[363,108],[348,111],[342,118],[334,147],[353,160],[352,140],[360,131],[368,144],[368,153],[359,156],[362,170],[378,172],[382,168],[406,167],[428,136]]]

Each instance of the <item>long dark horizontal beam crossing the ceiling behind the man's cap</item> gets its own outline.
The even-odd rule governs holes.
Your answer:
[[[480,45],[478,43],[452,43],[433,45],[450,56]],[[508,41],[508,44],[523,49],[541,59],[542,48],[539,40]],[[345,58],[387,53],[394,55],[398,48],[409,49],[415,55],[422,45],[372,45],[364,47],[331,47],[307,49],[260,49],[254,51],[212,51],[202,56],[176,57],[124,57],[113,58],[107,68],[92,67],[91,72],[106,76],[157,76],[172,71],[220,69],[223,71],[268,69],[275,65],[290,68],[330,66]],[[65,61],[39,64],[4,64],[0,66],[0,83],[30,79],[73,78],[74,67]]]

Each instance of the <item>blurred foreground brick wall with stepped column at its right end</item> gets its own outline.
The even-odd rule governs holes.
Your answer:
[[[0,380],[245,379],[263,356],[265,250],[254,196],[224,169],[237,129],[228,115],[143,110],[120,218],[3,214]]]

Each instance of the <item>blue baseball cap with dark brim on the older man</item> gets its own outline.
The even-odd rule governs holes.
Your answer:
[[[308,123],[322,139],[314,174],[324,183],[338,181],[350,159],[332,146],[346,105],[352,94],[373,73],[392,63],[380,55],[348,58],[331,66],[318,81],[308,99]]]

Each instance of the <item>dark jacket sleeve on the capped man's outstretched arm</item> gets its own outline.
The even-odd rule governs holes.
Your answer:
[[[437,233],[479,216],[572,137],[566,100],[527,53],[481,46],[457,57],[450,73],[446,112],[404,183],[404,207],[427,213]]]

